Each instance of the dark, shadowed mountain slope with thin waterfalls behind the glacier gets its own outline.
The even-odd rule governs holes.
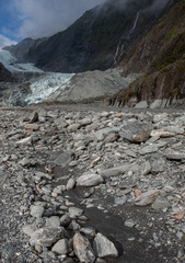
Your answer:
[[[48,71],[105,70],[118,65],[147,34],[166,3],[108,0],[86,11],[66,31],[46,39],[27,38],[8,49],[20,61],[34,62]]]

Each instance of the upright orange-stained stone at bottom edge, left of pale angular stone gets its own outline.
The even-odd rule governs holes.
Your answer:
[[[90,241],[81,233],[76,233],[73,237],[73,250],[79,261],[82,263],[94,263],[95,254]]]

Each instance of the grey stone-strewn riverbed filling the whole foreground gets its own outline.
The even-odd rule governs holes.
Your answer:
[[[185,262],[184,111],[0,113],[0,262]]]

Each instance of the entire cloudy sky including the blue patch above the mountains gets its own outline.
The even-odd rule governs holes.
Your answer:
[[[105,0],[0,0],[0,47],[49,36]]]

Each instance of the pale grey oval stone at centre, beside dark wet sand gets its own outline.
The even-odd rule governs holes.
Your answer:
[[[77,186],[95,186],[103,183],[103,178],[96,173],[85,173],[77,179]]]

